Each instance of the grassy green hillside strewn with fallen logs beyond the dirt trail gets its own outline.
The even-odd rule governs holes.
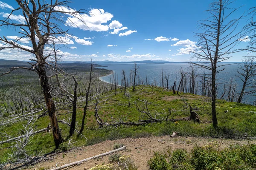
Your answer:
[[[169,119],[182,118],[189,116],[189,105],[192,108],[198,108],[196,111],[200,115],[201,124],[193,121],[179,121],[179,122],[162,122],[155,124],[145,124],[141,126],[119,126],[119,127],[104,127],[99,128],[94,117],[94,103],[93,95],[90,98],[89,111],[87,112],[86,125],[83,135],[87,138],[77,137],[76,134],[68,138],[69,127],[59,123],[62,136],[65,142],[61,144],[61,150],[67,150],[76,146],[85,146],[103,142],[105,140],[115,140],[121,138],[140,138],[163,136],[172,134],[174,131],[181,136],[212,136],[235,138],[242,136],[256,136],[256,107],[252,105],[238,104],[236,102],[227,102],[225,100],[217,100],[217,118],[218,127],[215,129],[211,123],[205,123],[211,120],[210,100],[207,97],[197,96],[193,94],[172,94],[172,91],[166,91],[159,87],[151,86],[137,86],[136,91],[132,92],[132,88],[128,88],[128,94],[124,95],[122,89],[118,89],[118,93],[114,91],[103,93],[100,96],[98,105],[98,113],[103,122],[123,121],[137,122],[140,119],[145,119],[143,114],[137,110],[137,107],[142,109],[145,107],[144,102],[148,102],[148,110],[152,116],[157,119],[168,114],[168,108],[171,109],[172,114]],[[130,102],[131,106],[128,106]],[[187,106],[187,105],[188,106]],[[136,107],[137,105],[137,107]],[[81,126],[81,118],[83,115],[84,103],[79,103],[77,108],[77,123],[76,129],[79,130]],[[71,120],[70,110],[72,108],[64,107],[58,109],[58,120],[69,122]],[[229,110],[227,113],[224,111]],[[39,113],[38,113],[39,114]],[[41,114],[41,113],[40,113]],[[35,119],[37,117],[34,117]],[[7,119],[2,117],[1,119]],[[11,119],[11,118],[10,118]],[[0,120],[1,121],[1,120]],[[37,119],[32,125],[33,128],[42,129],[48,126],[48,116]],[[23,128],[27,124],[26,119],[9,125],[0,126],[0,132],[9,134],[10,136],[20,136],[24,134]],[[2,137],[1,140],[6,140]],[[30,143],[22,149],[29,156],[42,156],[54,150],[54,142],[51,133],[38,133],[33,138],[30,138]],[[0,163],[7,161],[15,161],[23,154],[17,152],[13,144],[2,144],[0,146]],[[22,141],[21,141],[22,143]],[[69,144],[71,143],[71,144]],[[63,146],[63,147],[62,147]],[[9,155],[11,154],[11,155]]]

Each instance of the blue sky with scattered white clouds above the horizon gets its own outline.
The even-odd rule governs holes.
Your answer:
[[[69,30],[64,38],[67,48],[60,48],[63,60],[89,61],[113,60],[168,60],[189,61],[192,54],[186,50],[193,49],[197,40],[194,32],[198,32],[197,22],[207,18],[206,10],[212,0],[73,0],[70,7],[81,8],[93,15],[84,17],[87,26],[77,21],[77,27],[67,23],[62,26]],[[233,16],[247,14],[247,10],[255,6],[255,0],[236,0],[231,7],[242,6]],[[0,17],[17,8],[15,0],[0,1]],[[19,20],[18,13],[15,13]],[[248,18],[240,21],[239,28],[244,26]],[[76,20],[74,20],[76,22]],[[19,36],[15,28],[0,28],[0,36],[9,40]],[[63,39],[62,39],[63,40]],[[241,41],[239,47],[247,44]],[[21,45],[29,46],[24,39]],[[246,52],[234,54],[229,61],[241,61]],[[30,54],[23,51],[0,51],[2,59],[31,59]]]

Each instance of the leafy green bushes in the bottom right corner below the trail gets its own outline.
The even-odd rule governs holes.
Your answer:
[[[215,144],[195,146],[167,153],[155,152],[148,161],[150,170],[253,170],[256,168],[256,144],[233,145],[219,151]]]

